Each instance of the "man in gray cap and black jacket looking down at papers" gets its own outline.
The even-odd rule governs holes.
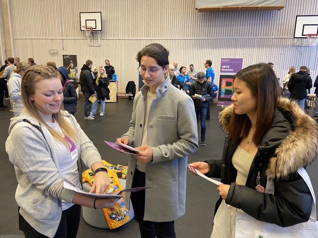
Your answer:
[[[213,100],[213,89],[211,83],[207,81],[205,78],[204,72],[197,73],[197,80],[191,84],[189,89],[189,96],[192,97],[194,103],[194,109],[197,116],[198,123],[198,115],[200,113],[200,121],[201,121],[201,145],[206,145],[205,142],[205,118],[206,112],[209,106],[209,102]]]

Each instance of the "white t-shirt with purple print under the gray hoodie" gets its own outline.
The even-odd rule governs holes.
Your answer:
[[[50,123],[46,122],[53,130],[58,133],[62,134],[62,130],[59,127],[58,123]],[[59,163],[59,168],[61,172],[61,177],[70,181],[71,183],[75,184],[78,187],[81,187],[79,181],[79,172],[77,167],[77,159],[78,159],[78,152],[76,149],[75,142],[73,142],[68,136],[64,136],[64,140],[69,142],[69,147],[66,147],[64,144],[59,142],[58,140],[54,139],[55,144],[55,152],[56,158]],[[62,200],[62,210],[66,210],[74,205],[74,203],[66,202]]]

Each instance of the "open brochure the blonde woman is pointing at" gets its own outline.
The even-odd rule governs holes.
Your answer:
[[[119,191],[107,193],[107,194],[95,194],[95,193],[85,192],[83,189],[77,187],[75,184],[67,181],[66,179],[64,179],[63,186],[66,189],[73,190],[76,193],[85,194],[85,195],[87,195],[89,197],[93,197],[93,198],[121,198],[121,197],[124,197],[124,195],[121,195],[123,192],[137,192],[137,191],[140,191],[143,189],[156,187],[156,186],[148,186],[148,187],[141,187],[141,188],[126,188],[123,190],[119,190]]]

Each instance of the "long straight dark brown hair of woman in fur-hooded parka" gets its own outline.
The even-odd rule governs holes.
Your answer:
[[[240,70],[235,76],[244,81],[252,92],[252,97],[257,99],[257,120],[255,132],[251,140],[259,145],[263,136],[273,122],[273,116],[281,94],[278,79],[273,69],[265,64],[254,64]],[[251,121],[246,114],[238,115],[233,111],[228,127],[231,139],[236,140],[248,135]]]

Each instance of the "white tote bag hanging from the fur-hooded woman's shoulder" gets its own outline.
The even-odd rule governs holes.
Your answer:
[[[318,222],[316,221],[316,198],[309,176],[304,168],[298,169],[298,173],[305,180],[313,197],[311,215],[307,222],[299,223],[291,227],[280,227],[275,224],[258,221],[246,213],[237,212],[235,218],[235,237],[254,238],[255,231],[260,231],[268,235],[268,238],[318,238]],[[267,188],[268,187],[268,188]],[[273,180],[267,181],[266,193],[274,191]],[[256,236],[259,237],[259,236]],[[261,237],[261,236],[260,236]],[[266,236],[264,236],[266,237]]]

